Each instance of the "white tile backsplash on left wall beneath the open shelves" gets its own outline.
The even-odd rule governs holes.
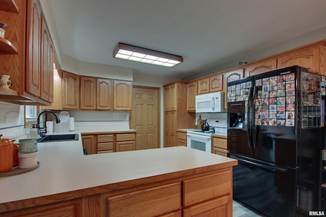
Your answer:
[[[25,134],[24,106],[0,102],[0,134],[15,138]]]

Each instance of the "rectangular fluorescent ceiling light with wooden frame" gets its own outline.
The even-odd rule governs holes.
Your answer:
[[[182,56],[162,53],[123,43],[118,44],[113,52],[113,57],[165,67],[174,67],[183,62]]]

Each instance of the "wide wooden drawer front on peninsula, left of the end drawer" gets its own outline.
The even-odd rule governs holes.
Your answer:
[[[157,216],[181,208],[181,183],[107,198],[110,216]]]

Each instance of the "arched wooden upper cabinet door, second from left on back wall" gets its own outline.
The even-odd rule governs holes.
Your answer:
[[[96,78],[80,77],[80,107],[81,110],[96,109]]]

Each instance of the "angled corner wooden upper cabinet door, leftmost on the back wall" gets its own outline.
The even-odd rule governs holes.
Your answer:
[[[63,71],[62,75],[63,109],[79,108],[79,76]]]

